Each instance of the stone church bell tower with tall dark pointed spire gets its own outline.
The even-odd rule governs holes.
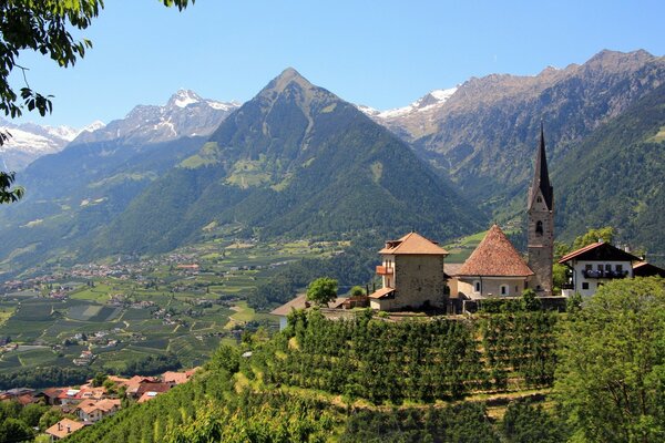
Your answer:
[[[552,295],[552,260],[554,258],[554,189],[550,184],[545,136],[541,123],[540,146],[535,157],[533,181],[529,187],[528,245],[529,267],[535,274],[529,287],[536,295]]]

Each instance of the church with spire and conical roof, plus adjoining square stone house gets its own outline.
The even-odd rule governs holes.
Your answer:
[[[497,225],[463,264],[447,264],[448,251],[417,233],[388,240],[377,266],[382,287],[369,295],[369,306],[388,311],[442,309],[451,299],[520,297],[528,288],[539,297],[553,295],[554,189],[542,126],[526,214],[528,261]]]

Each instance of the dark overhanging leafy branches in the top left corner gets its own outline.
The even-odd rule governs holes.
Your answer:
[[[190,0],[163,0],[164,6],[176,6],[180,10],[186,8],[188,2]],[[76,40],[70,30],[88,29],[103,8],[103,0],[0,2],[0,112],[11,119],[21,116],[24,109],[38,111],[42,116],[51,113],[52,96],[30,87],[27,75],[29,70],[18,64],[19,54],[31,50],[48,55],[59,66],[73,66],[78,59],[85,55],[85,50],[92,48],[92,42],[88,39]],[[14,68],[23,74],[23,85],[20,87],[9,82]],[[0,146],[10,136],[10,133],[0,131]],[[23,196],[22,188],[11,188],[13,181],[13,173],[0,171],[0,204],[12,203]]]

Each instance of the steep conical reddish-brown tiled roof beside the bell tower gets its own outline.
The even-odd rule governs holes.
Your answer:
[[[492,226],[458,276],[529,277],[533,271],[497,225]]]

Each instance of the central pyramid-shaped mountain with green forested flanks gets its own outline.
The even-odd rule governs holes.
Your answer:
[[[407,144],[287,69],[132,202],[96,251],[168,250],[211,223],[262,237],[416,228],[444,239],[482,219]]]

